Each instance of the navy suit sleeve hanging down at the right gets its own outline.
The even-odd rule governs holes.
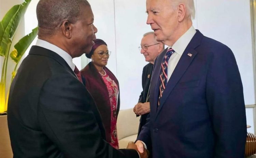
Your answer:
[[[225,47],[212,53],[209,60],[206,97],[215,134],[214,158],[244,157],[246,116],[236,59]]]

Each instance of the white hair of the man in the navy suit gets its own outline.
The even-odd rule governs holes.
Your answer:
[[[180,3],[184,3],[186,6],[187,11],[187,17],[194,19],[195,18],[195,5],[194,0],[172,0],[173,1],[173,7],[175,8]]]

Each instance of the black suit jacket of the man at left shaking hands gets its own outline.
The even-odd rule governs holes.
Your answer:
[[[105,141],[93,98],[58,54],[32,46],[13,80],[8,126],[14,158],[139,157]]]

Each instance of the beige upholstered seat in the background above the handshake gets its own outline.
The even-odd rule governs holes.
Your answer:
[[[138,134],[140,117],[133,109],[120,110],[117,117],[117,137],[119,148],[126,148],[129,141],[135,141]]]

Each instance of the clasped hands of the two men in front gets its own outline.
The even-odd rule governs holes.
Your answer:
[[[127,148],[136,150],[139,153],[140,158],[148,158],[149,156],[149,151],[145,149],[142,141],[140,140],[138,140],[136,143],[129,142]]]

